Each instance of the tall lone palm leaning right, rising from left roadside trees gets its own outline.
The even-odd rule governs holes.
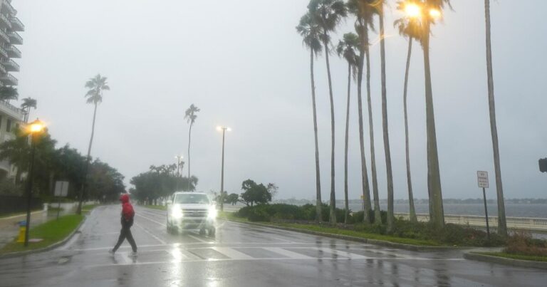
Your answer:
[[[95,119],[97,118],[97,106],[99,105],[99,103],[103,102],[103,91],[110,90],[110,86],[108,86],[106,80],[106,77],[102,77],[100,74],[97,74],[95,75],[95,77],[90,78],[87,82],[85,82],[85,88],[89,89],[88,93],[85,93],[85,98],[88,98],[86,103],[93,104],[93,124],[91,125],[91,137],[88,146],[88,156],[85,160],[83,184],[80,189],[80,199],[78,201],[78,209],[76,211],[77,214],[81,214],[82,212],[82,201],[83,194],[85,192],[85,182],[87,181],[89,162],[91,160],[91,145],[93,145],[93,136],[95,135]]]

